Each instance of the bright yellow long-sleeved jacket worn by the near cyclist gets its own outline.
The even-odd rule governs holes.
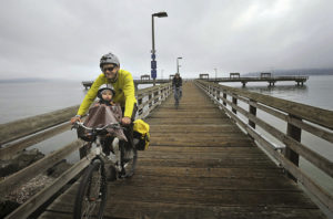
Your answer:
[[[132,117],[135,100],[135,88],[133,77],[130,72],[124,70],[118,71],[118,80],[114,83],[110,83],[105,75],[102,73],[94,80],[90,90],[88,91],[83,102],[80,105],[78,115],[84,115],[89,106],[97,97],[99,87],[103,84],[111,84],[114,88],[115,95],[112,101],[119,103],[122,107],[125,107],[124,117]]]

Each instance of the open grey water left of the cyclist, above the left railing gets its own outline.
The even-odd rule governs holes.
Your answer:
[[[81,82],[0,83],[0,124],[78,105]]]

